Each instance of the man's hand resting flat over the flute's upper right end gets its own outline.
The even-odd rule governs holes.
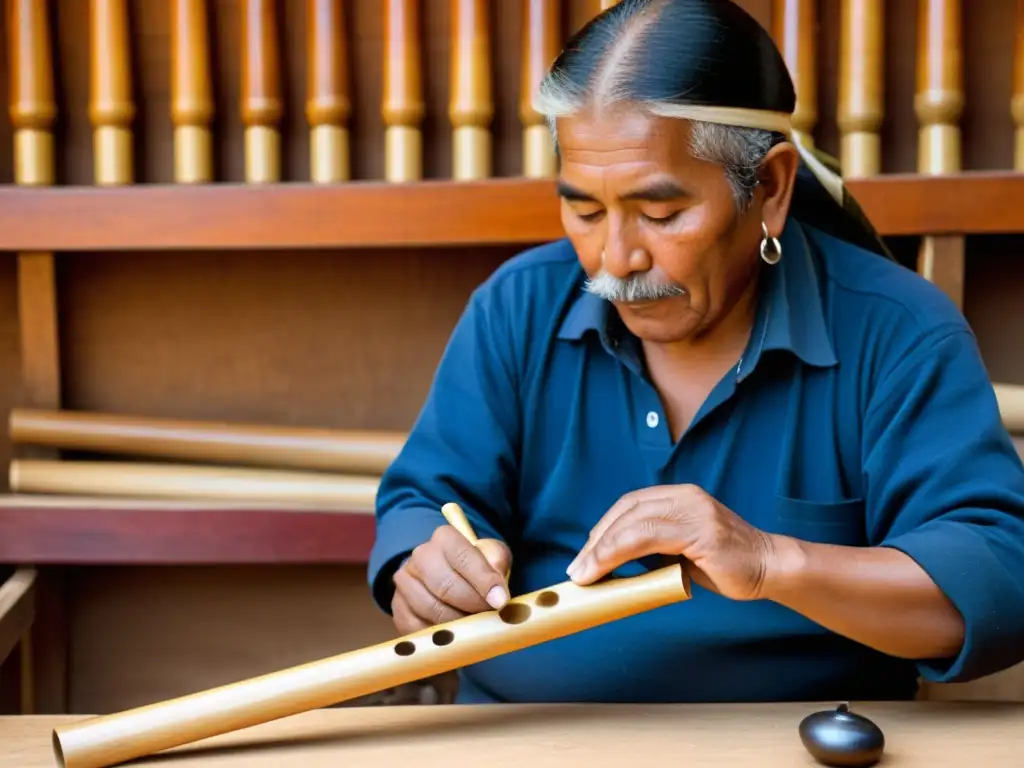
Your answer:
[[[733,600],[759,599],[775,564],[771,537],[701,488],[655,485],[615,502],[567,572],[591,584],[648,555],[682,556],[695,584]]]

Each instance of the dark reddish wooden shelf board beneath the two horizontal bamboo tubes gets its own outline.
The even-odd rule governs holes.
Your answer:
[[[0,499],[0,562],[15,564],[362,564],[374,530],[366,512]]]

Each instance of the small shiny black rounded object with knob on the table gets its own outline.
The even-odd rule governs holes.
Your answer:
[[[848,703],[804,718],[800,740],[819,763],[844,768],[874,765],[886,746],[882,729],[863,715],[850,712]]]

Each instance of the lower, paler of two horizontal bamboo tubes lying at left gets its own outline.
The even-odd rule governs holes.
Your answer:
[[[18,494],[279,502],[372,512],[380,478],[274,469],[15,459],[10,463],[9,483]]]

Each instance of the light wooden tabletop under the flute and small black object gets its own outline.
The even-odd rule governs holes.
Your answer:
[[[598,768],[817,765],[800,742],[805,705],[482,705],[317,710],[176,748],[166,768],[416,765]],[[880,766],[1024,766],[1024,705],[854,702],[886,735]],[[51,729],[81,717],[0,717],[0,768],[53,768]]]

